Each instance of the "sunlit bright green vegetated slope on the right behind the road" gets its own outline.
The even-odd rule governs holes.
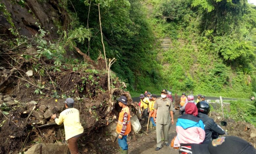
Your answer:
[[[159,50],[161,79],[174,92],[252,96],[256,7],[246,0],[150,0],[150,23],[171,48]]]

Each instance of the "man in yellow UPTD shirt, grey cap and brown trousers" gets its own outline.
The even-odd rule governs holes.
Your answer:
[[[74,100],[72,98],[66,99],[65,107],[66,109],[60,113],[59,118],[56,117],[56,114],[53,114],[52,119],[58,125],[64,123],[65,136],[70,153],[78,154],[77,140],[82,136],[84,128],[80,123],[79,111],[74,108]]]

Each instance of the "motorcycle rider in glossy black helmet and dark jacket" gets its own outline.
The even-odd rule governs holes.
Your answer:
[[[212,118],[208,117],[208,113],[210,112],[210,106],[205,101],[200,101],[197,103],[198,108],[198,117],[202,119],[204,124],[205,138],[203,140],[203,144],[208,144],[218,137],[218,135],[227,134],[219,125],[217,125]]]

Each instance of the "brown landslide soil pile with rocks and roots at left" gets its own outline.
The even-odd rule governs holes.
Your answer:
[[[67,97],[74,98],[80,111],[84,137],[79,145],[89,152],[91,148],[100,153],[104,146],[97,148],[100,144],[95,141],[118,117],[120,107],[113,100],[125,95],[131,111],[136,111],[136,104],[129,92],[122,90],[118,78],[112,79],[115,88],[107,91],[107,73],[100,66],[96,68],[93,61],[93,65],[65,64],[63,69],[49,59],[34,58],[32,52],[10,51],[1,58],[0,153],[26,151],[33,143],[62,142],[64,127],[56,125],[51,115],[64,110]],[[102,58],[98,61],[102,63]]]

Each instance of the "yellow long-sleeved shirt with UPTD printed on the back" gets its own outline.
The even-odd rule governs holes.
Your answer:
[[[66,140],[84,132],[80,123],[79,111],[73,107],[62,111],[59,118],[55,118],[55,123],[58,125],[64,123]]]

